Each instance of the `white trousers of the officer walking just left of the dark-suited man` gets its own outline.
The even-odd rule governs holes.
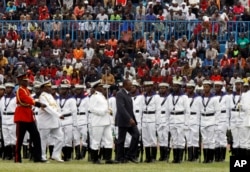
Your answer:
[[[111,125],[92,126],[91,131],[91,149],[98,150],[102,146],[104,148],[113,148],[113,137]]]

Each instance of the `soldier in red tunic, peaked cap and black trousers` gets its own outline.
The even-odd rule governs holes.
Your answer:
[[[21,163],[21,146],[26,131],[29,132],[31,141],[34,145],[34,162],[46,162],[41,156],[41,139],[37,130],[35,117],[33,115],[32,106],[45,108],[46,105],[35,101],[27,88],[28,78],[26,74],[17,76],[19,88],[16,92],[17,107],[14,114],[14,122],[16,123],[16,152],[15,162]]]

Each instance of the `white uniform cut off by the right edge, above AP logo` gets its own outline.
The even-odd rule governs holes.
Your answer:
[[[243,122],[243,127],[246,128],[247,132],[245,135],[244,133],[241,133],[245,139],[242,141],[242,145],[244,149],[250,150],[250,91],[247,91],[246,93],[242,94],[242,110],[245,112],[245,118]]]

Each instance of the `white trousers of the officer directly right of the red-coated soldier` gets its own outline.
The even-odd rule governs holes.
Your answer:
[[[40,129],[39,132],[41,136],[42,159],[43,160],[47,159],[46,147],[50,137],[53,138],[55,143],[51,157],[61,159],[61,151],[64,144],[62,128]]]

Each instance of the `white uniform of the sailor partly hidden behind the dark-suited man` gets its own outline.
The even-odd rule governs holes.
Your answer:
[[[141,134],[141,128],[142,128],[142,109],[143,109],[143,102],[144,102],[144,97],[143,95],[137,95],[134,97],[131,97],[132,101],[133,101],[133,111],[135,114],[135,119],[137,122],[137,127],[139,130],[139,133]],[[131,142],[131,135],[129,133],[126,134],[126,139],[125,139],[125,143],[124,143],[124,147],[128,148],[130,146],[130,142]]]

